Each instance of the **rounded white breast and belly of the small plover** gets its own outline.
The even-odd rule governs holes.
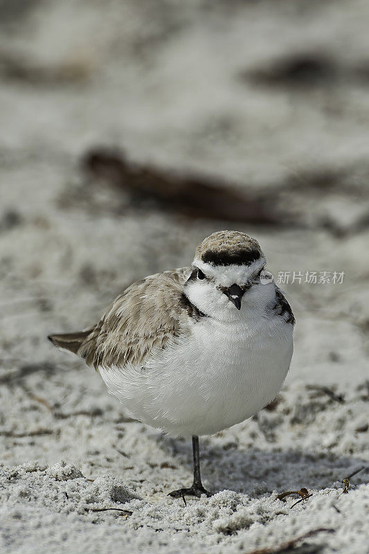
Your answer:
[[[293,351],[280,317],[196,323],[190,337],[141,368],[100,368],[132,415],[170,434],[205,435],[239,423],[280,391]]]

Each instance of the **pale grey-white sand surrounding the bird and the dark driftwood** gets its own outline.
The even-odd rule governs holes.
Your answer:
[[[368,553],[368,472],[342,483],[369,455],[368,3],[1,9],[1,552],[271,553],[324,528],[290,549]],[[271,409],[201,439],[216,494],[187,506],[166,494],[190,482],[189,441],[129,420],[46,335],[97,321],[230,225],[128,200],[117,214],[116,190],[80,173],[96,144],[241,189],[288,184],[280,206],[302,225],[232,228],[258,238],[275,276],[344,272],[281,285],[297,320],[287,382]],[[303,487],[296,506],[276,499]]]

